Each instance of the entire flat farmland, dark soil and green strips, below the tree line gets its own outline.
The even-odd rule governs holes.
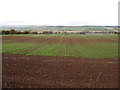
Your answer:
[[[4,35],[4,88],[116,88],[117,35]]]

